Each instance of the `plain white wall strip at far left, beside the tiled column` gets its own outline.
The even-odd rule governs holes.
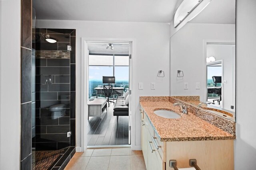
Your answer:
[[[20,0],[0,1],[0,169],[20,168]]]

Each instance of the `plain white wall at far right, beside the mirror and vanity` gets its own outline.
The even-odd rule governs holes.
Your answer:
[[[235,170],[256,169],[256,1],[237,0]]]

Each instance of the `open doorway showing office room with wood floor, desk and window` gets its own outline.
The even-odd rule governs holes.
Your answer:
[[[87,148],[131,144],[130,41],[87,41]]]

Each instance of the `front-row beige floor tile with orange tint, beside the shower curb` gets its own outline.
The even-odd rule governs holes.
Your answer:
[[[73,157],[65,170],[85,170],[90,157]]]

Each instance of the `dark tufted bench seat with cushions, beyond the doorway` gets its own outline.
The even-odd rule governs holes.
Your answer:
[[[118,121],[118,116],[128,116],[129,115],[129,105],[125,104],[124,96],[118,96],[116,99],[116,104],[114,106],[114,116]]]

